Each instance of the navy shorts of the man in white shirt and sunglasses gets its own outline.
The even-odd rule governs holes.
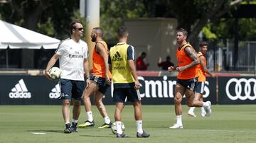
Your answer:
[[[70,79],[60,79],[60,98],[80,100],[85,89],[85,81],[73,81]]]

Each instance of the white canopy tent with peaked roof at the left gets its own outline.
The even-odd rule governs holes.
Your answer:
[[[0,50],[7,49],[56,49],[60,40],[50,38],[33,30],[28,30],[0,20]],[[6,67],[8,68],[8,50]]]

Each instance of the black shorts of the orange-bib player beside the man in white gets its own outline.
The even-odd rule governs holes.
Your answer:
[[[102,94],[105,94],[107,92],[107,88],[110,87],[110,85],[106,84],[105,78],[100,76],[94,76],[91,74],[90,80],[95,81],[95,83],[99,86],[99,91]]]

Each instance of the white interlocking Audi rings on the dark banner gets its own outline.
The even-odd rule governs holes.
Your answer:
[[[229,88],[231,83],[235,83],[235,95],[230,94]],[[243,88],[242,83],[245,83]],[[253,84],[253,88],[251,88],[251,83]],[[243,93],[245,93],[245,95],[242,95],[242,90],[244,91]],[[253,94],[251,96],[252,90]],[[238,99],[242,101],[245,101],[246,99],[253,101],[256,99],[256,79],[230,79],[226,84],[225,91],[227,93],[228,98],[230,98],[233,101]]]

